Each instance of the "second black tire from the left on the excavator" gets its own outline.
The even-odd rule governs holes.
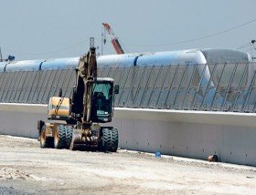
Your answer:
[[[54,148],[55,149],[67,148],[66,127],[63,125],[57,126],[57,130],[54,135]]]

